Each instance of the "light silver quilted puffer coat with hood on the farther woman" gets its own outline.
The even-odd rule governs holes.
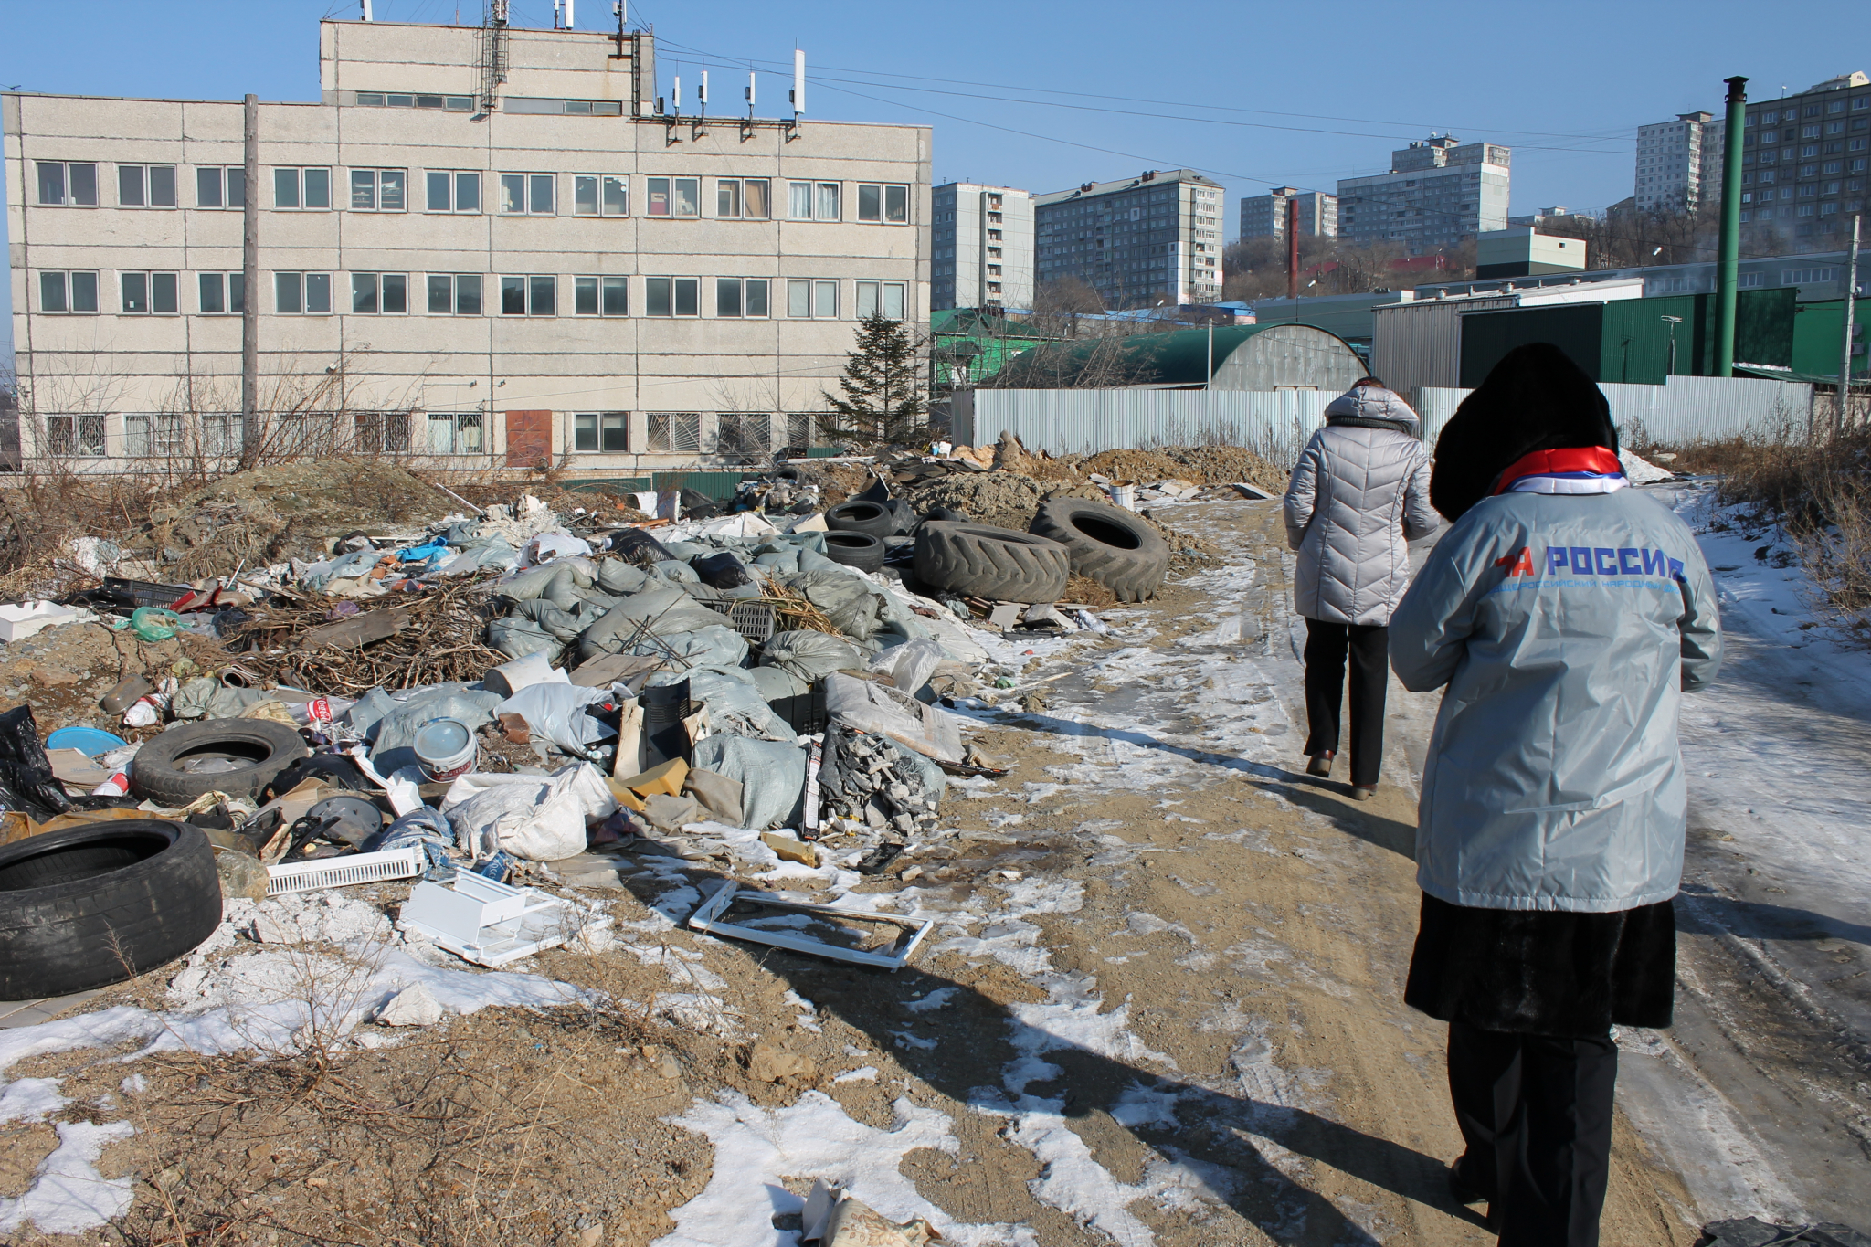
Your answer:
[[[1429,451],[1416,413],[1360,385],[1325,409],[1287,484],[1293,609],[1325,623],[1385,624],[1409,583],[1409,540],[1437,527]]]

